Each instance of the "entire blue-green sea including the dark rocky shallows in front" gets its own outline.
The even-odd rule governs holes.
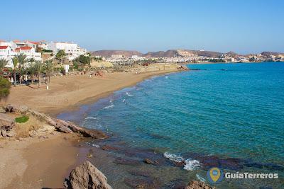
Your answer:
[[[58,118],[102,130],[84,143],[114,188],[284,188],[284,63],[188,64]],[[145,159],[152,164],[144,163]],[[211,183],[208,170],[278,178]]]

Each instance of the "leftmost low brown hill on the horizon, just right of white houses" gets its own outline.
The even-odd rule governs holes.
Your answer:
[[[124,57],[131,57],[132,55],[142,56],[143,54],[133,50],[97,50],[92,51],[93,56],[111,57],[111,55],[123,55]]]

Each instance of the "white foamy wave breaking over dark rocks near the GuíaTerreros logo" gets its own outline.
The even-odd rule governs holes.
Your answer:
[[[170,161],[175,161],[178,163],[182,161],[185,162],[185,166],[183,166],[183,169],[187,171],[195,170],[197,167],[200,166],[200,161],[197,161],[195,159],[185,159],[182,156],[170,154],[168,152],[165,152],[163,155],[165,156],[165,158],[170,159]]]

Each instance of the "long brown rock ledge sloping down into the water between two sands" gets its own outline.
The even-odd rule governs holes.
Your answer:
[[[87,128],[79,127],[75,125],[75,123],[73,122],[51,118],[50,116],[45,115],[44,113],[39,113],[38,111],[28,108],[26,105],[9,104],[9,105],[4,106],[4,109],[8,113],[20,113],[20,114],[25,114],[25,115],[33,115],[36,118],[38,118],[38,120],[46,122],[48,123],[48,125],[55,127],[55,129],[58,130],[59,132],[65,132],[65,133],[77,132],[77,133],[82,134],[84,137],[92,137],[94,139],[107,138],[107,134],[105,134],[104,132],[101,132],[99,130],[89,130]]]

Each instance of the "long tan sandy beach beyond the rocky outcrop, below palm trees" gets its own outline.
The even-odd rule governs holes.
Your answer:
[[[148,71],[140,74],[114,72],[104,74],[103,77],[54,76],[51,78],[49,90],[46,90],[46,86],[38,88],[37,85],[12,87],[6,103],[27,105],[42,113],[56,115],[84,103],[95,102],[114,91],[133,86],[151,76],[175,71],[178,70]]]

